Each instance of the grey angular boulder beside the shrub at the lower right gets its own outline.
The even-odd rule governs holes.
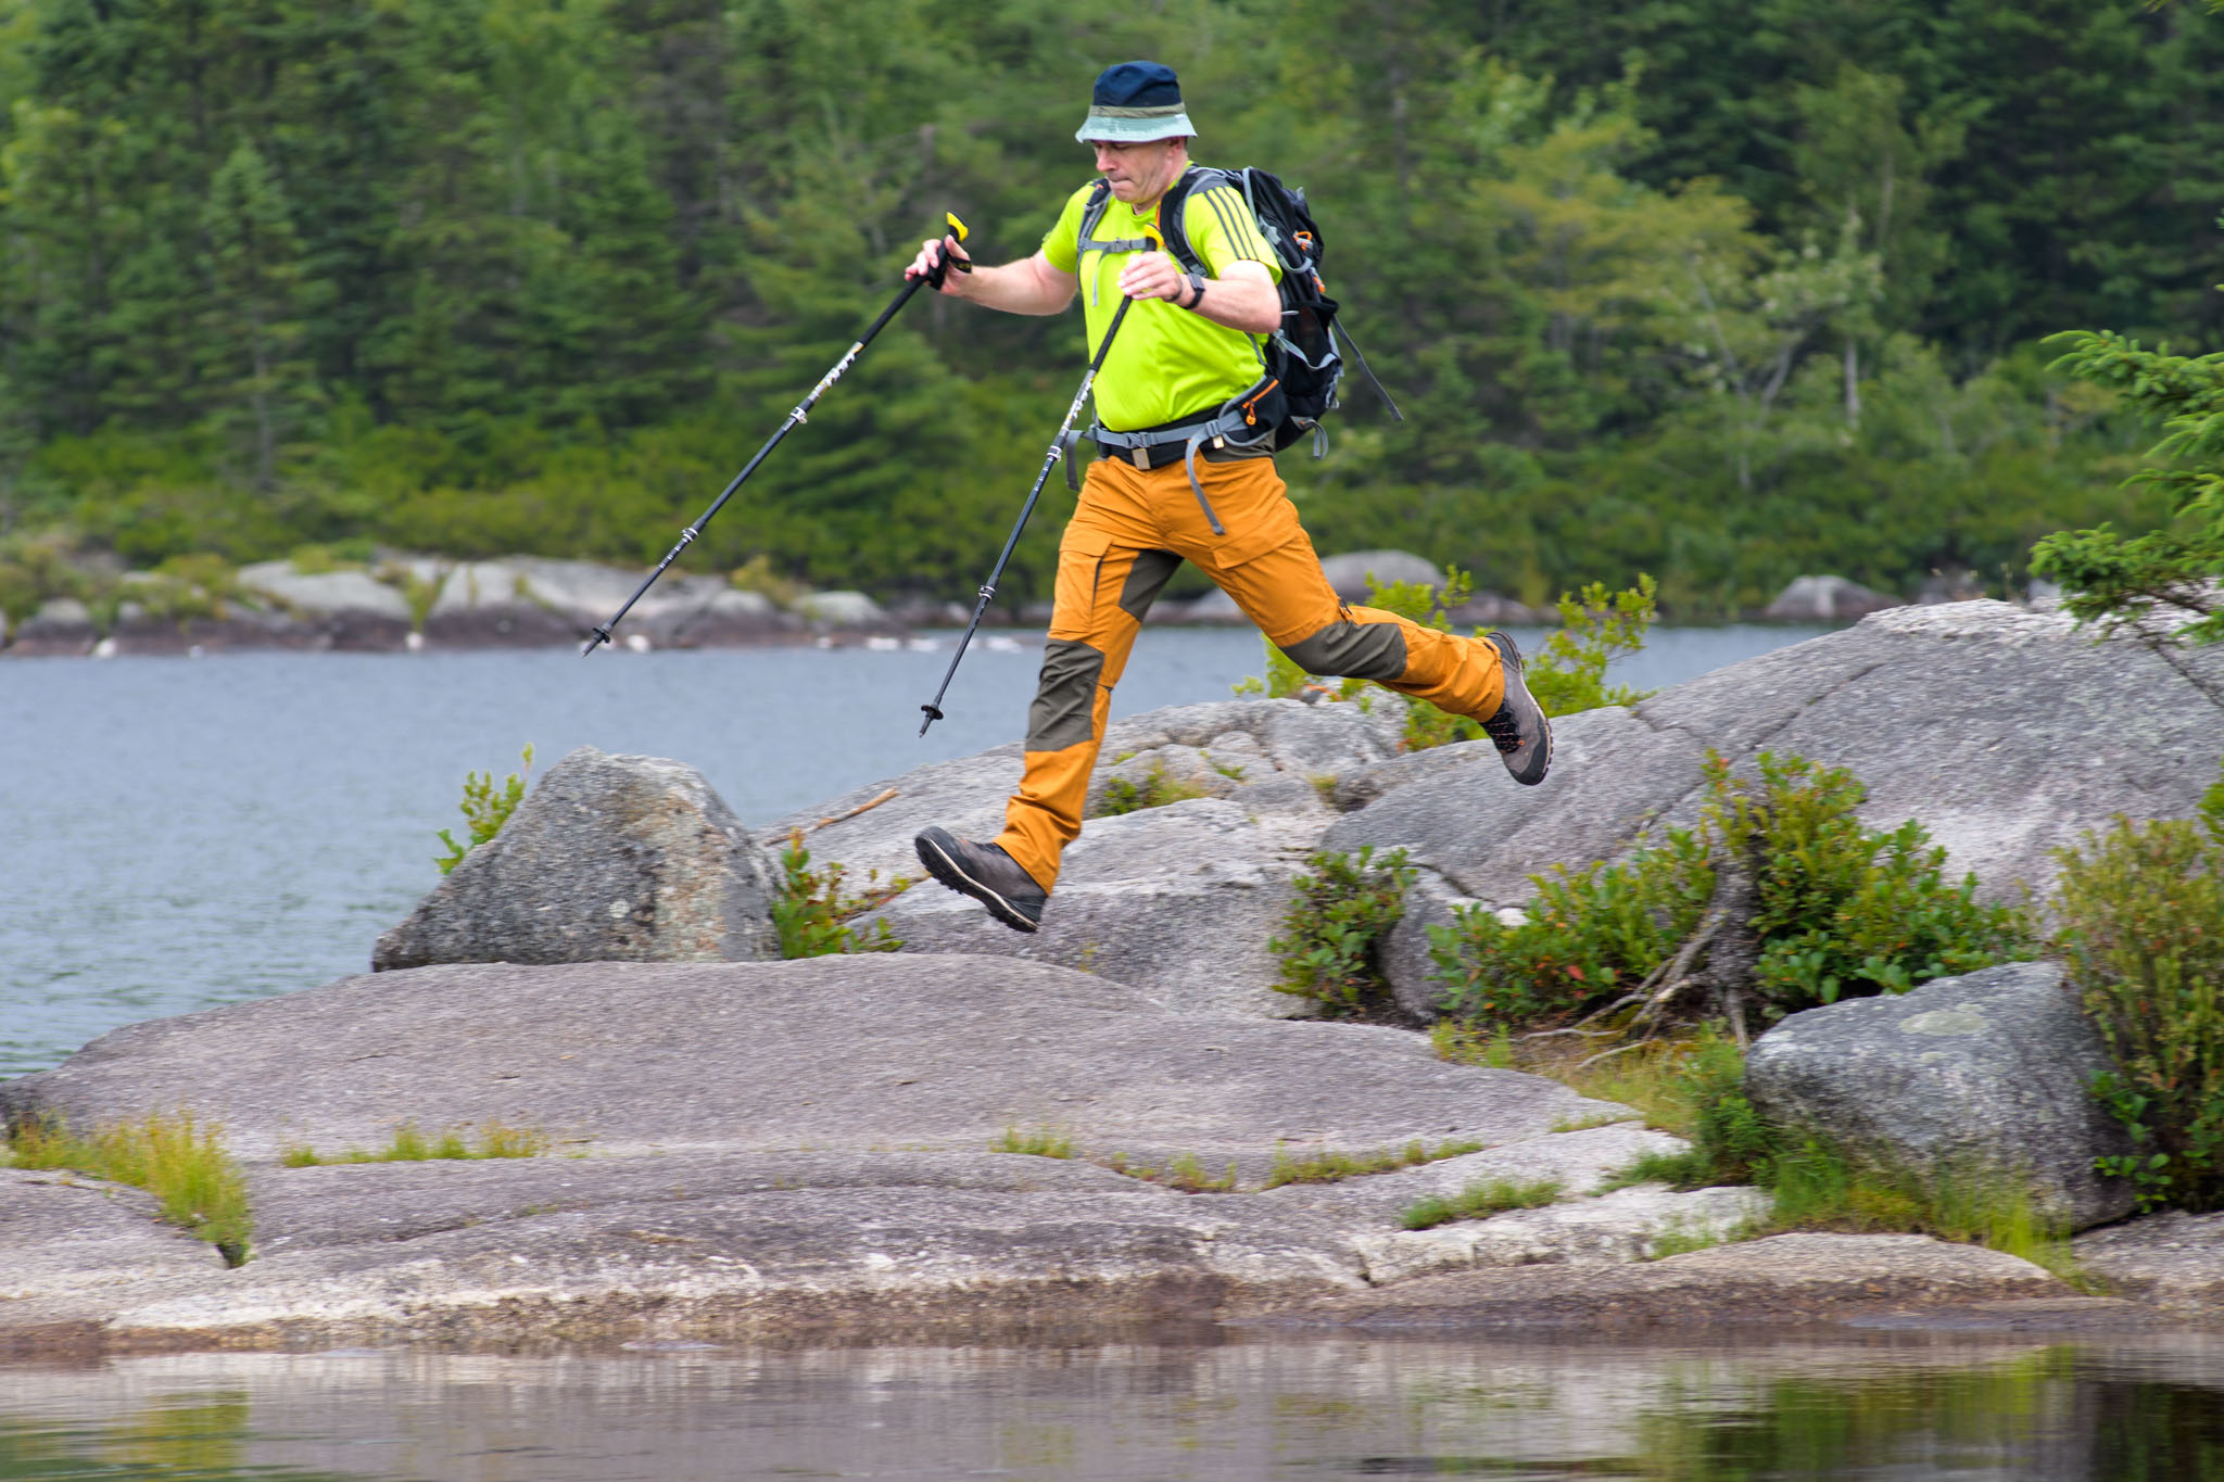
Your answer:
[[[2086,1089],[2108,1064],[2062,967],[2010,962],[1795,1013],[1753,1044],[1746,1093],[1886,1169],[2013,1178],[2048,1218],[2086,1229],[2135,1202],[2093,1171],[2131,1151]]]

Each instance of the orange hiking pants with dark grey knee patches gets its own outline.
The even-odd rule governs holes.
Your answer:
[[[1059,880],[1059,853],[1081,835],[1112,687],[1143,613],[1183,560],[1305,673],[1374,680],[1475,720],[1495,715],[1506,693],[1490,642],[1337,600],[1272,458],[1199,458],[1197,480],[1225,535],[1212,533],[1181,462],[1136,469],[1099,458],[1059,542],[1043,678],[1027,711],[1027,771],[996,835],[1045,891]]]

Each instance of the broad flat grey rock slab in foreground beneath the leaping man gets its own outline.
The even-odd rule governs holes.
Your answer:
[[[1357,1240],[1401,1193],[1259,1193],[1279,1155],[1472,1140],[1577,1184],[1612,1129],[1552,1129],[1628,1115],[1392,1029],[1201,1031],[1083,973],[905,955],[383,973],[111,1033],[0,1104],[73,1124],[189,1104],[225,1126],[254,1260],[225,1271],[158,1231],[196,1260],[118,1246],[105,1284],[78,1262],[0,1302],[0,1329],[171,1344],[1210,1320],[1368,1280]],[[278,1162],[400,1122],[532,1126],[567,1155]],[[992,1153],[1014,1129],[1081,1158]],[[1250,1193],[1103,1166],[1179,1160]],[[0,1224],[82,1224],[60,1200],[0,1182]]]

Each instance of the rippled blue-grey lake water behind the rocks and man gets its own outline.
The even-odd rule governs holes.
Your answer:
[[[1815,631],[1666,629],[1615,678],[1675,684]],[[463,775],[527,742],[543,769],[580,744],[678,758],[756,824],[1019,738],[1039,638],[996,635],[919,740],[947,644],[0,662],[0,1075],[365,971],[438,882]],[[1114,713],[1257,671],[1248,629],[1152,629]]]

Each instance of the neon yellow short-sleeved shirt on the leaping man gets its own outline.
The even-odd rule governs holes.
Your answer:
[[[1092,189],[1094,182],[1065,200],[1065,211],[1043,238],[1043,256],[1061,273],[1081,278],[1081,309],[1094,356],[1119,309],[1119,273],[1134,253],[1092,251],[1088,262],[1079,262],[1081,213]],[[1136,240],[1143,236],[1143,222],[1156,227],[1159,204],[1154,200],[1139,218],[1119,196],[1108,196],[1105,213],[1090,236]],[[1237,187],[1190,191],[1181,202],[1181,227],[1208,278],[1225,273],[1230,262],[1261,262],[1274,282],[1281,282],[1274,249],[1259,236],[1259,222],[1252,220]],[[1163,298],[1139,298],[1119,327],[1105,367],[1096,373],[1096,415],[1112,431],[1159,427],[1190,413],[1210,415],[1230,395],[1259,382],[1261,344],[1265,336],[1214,324]]]

